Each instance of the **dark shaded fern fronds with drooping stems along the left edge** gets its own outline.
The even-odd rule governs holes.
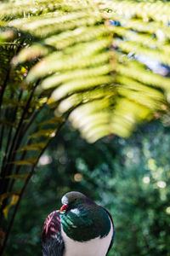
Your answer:
[[[1,254],[26,185],[42,152],[64,119],[54,118],[54,108],[47,106],[49,95],[35,95],[37,84],[24,82],[31,64],[16,68],[11,65],[11,60],[20,49],[31,42],[31,36],[4,27],[1,27],[0,34]],[[52,118],[55,122],[51,122]]]

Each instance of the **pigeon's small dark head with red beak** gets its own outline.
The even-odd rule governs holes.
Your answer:
[[[66,193],[62,197],[61,202],[63,206],[60,208],[60,213],[65,213],[68,210],[76,208],[80,204],[94,204],[94,202],[89,200],[86,195],[77,191]]]

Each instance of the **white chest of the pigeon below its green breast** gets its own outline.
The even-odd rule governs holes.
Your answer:
[[[109,234],[103,238],[94,238],[90,241],[74,241],[66,236],[64,230],[61,234],[65,241],[65,252],[63,256],[105,256],[111,243],[113,225]]]

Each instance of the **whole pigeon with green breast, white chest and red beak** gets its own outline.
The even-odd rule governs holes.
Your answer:
[[[114,240],[111,214],[80,192],[61,200],[59,211],[48,215],[42,230],[43,256],[105,256]]]

